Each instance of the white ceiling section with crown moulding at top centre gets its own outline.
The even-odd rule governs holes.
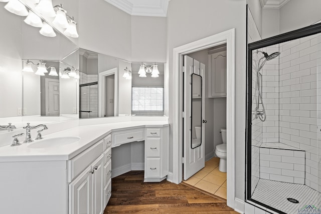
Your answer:
[[[171,0],[105,0],[132,16],[166,17]]]

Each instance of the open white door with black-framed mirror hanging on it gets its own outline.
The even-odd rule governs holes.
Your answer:
[[[184,74],[184,127],[183,127],[183,133],[184,133],[184,180],[187,180],[190,178],[193,174],[201,170],[205,166],[205,123],[202,122],[205,115],[205,103],[204,103],[204,84],[203,84],[203,75],[205,74],[205,65],[198,62],[197,60],[194,60],[193,58],[189,56],[184,56],[184,67],[185,67],[185,74]],[[195,74],[192,76],[192,74]],[[201,87],[200,90],[192,89],[192,79],[194,76],[199,75],[199,80],[196,80],[194,82],[194,85],[198,85]],[[194,88],[194,87],[193,87]],[[192,94],[198,91],[202,91],[201,96],[195,96],[193,98]],[[195,122],[192,125],[192,102],[194,101],[200,102],[200,109],[195,109],[193,112],[195,114],[201,115],[199,117],[199,121],[197,121],[196,125],[199,125],[202,127],[202,138],[201,138],[201,145],[200,146],[192,146],[192,138],[195,138]],[[199,112],[201,111],[201,113]],[[205,119],[204,119],[205,120]],[[194,118],[195,121],[195,118]],[[192,148],[194,147],[194,148]]]

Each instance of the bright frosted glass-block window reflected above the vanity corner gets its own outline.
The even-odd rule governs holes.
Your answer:
[[[132,111],[164,111],[164,88],[132,87]]]

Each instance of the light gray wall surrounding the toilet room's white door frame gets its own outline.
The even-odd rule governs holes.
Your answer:
[[[245,92],[246,92],[246,1],[175,0],[168,9],[169,94],[174,94],[173,48],[235,28],[235,172],[244,178]],[[167,77],[166,77],[167,78]],[[173,96],[169,96],[169,123],[176,115]],[[170,130],[170,171],[173,171],[173,130]],[[244,179],[236,179],[236,197],[244,199]]]

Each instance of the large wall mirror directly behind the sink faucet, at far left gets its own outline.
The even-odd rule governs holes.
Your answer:
[[[60,121],[62,120],[61,114],[78,117],[77,92],[73,95],[73,106],[68,107],[71,111],[62,111],[61,107],[65,106],[65,101],[61,100],[60,78],[59,76],[48,75],[51,67],[54,67],[59,74],[61,60],[77,50],[78,46],[56,30],[56,37],[41,35],[39,33],[40,28],[27,25],[24,22],[26,17],[17,16],[5,10],[5,4],[0,3],[0,26],[2,29],[6,29],[0,35],[0,55],[3,59],[0,62],[0,99],[2,100],[0,103],[0,125],[10,122],[16,128],[21,128],[26,121]],[[77,11],[74,14],[76,15]],[[57,85],[59,85],[59,99],[57,94],[52,97],[53,105],[49,111],[46,107],[47,92],[45,91],[46,87],[44,87],[48,78],[36,77],[37,67],[33,64],[31,65],[33,73],[22,72],[28,60],[34,62],[35,65],[40,62],[45,63],[46,68],[48,68],[47,76],[50,77],[50,81],[47,82],[50,82],[53,90],[56,90]],[[72,65],[78,66],[78,60]],[[56,85],[53,82],[56,82]],[[68,93],[64,92],[63,94]],[[23,115],[24,117],[21,117]],[[43,117],[45,115],[52,117],[46,119]]]

